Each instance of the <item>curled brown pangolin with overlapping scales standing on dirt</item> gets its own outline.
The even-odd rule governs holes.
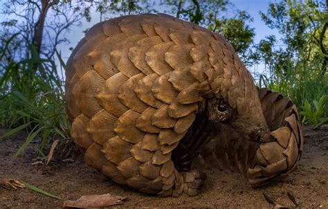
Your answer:
[[[195,158],[257,187],[302,153],[291,100],[258,90],[224,37],[164,14],[93,26],[66,65],[66,111],[88,165],[161,197],[199,192]]]

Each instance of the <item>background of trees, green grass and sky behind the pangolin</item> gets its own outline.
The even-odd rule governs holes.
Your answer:
[[[5,138],[22,129],[24,145],[38,152],[54,140],[69,140],[64,108],[64,61],[58,51],[67,33],[82,21],[111,15],[165,12],[199,24],[228,39],[248,68],[263,66],[254,78],[289,96],[313,128],[328,122],[328,0],[280,0],[260,12],[262,21],[280,34],[255,42],[253,17],[229,0],[11,0],[0,1],[0,127]]]

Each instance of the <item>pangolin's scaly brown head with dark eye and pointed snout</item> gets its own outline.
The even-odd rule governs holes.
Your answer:
[[[225,46],[230,49],[230,56],[224,55],[224,68],[215,69],[217,76],[210,82],[211,96],[206,100],[208,120],[214,122],[219,129],[229,126],[248,140],[268,142],[270,129],[264,118],[253,77],[234,53],[232,46],[227,42]]]

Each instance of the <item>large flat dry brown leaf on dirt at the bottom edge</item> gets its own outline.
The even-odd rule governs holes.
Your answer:
[[[91,194],[80,197],[76,201],[67,200],[64,208],[100,208],[114,206],[123,203],[125,197],[114,196],[111,194]]]

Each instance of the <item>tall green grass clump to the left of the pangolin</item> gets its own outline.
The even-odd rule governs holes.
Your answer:
[[[15,156],[36,139],[37,150],[44,156],[49,141],[69,139],[64,76],[57,73],[53,60],[39,58],[33,46],[28,47],[25,58],[19,61],[6,59],[11,53],[6,45],[0,51],[0,127],[10,131],[0,139],[25,130],[28,137]]]

